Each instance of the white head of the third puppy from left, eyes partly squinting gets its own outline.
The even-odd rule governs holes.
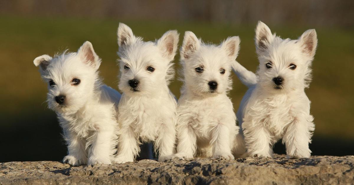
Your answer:
[[[239,52],[238,36],[220,45],[204,44],[194,33],[186,31],[180,50],[183,66],[182,91],[201,96],[215,96],[231,89],[231,64]]]

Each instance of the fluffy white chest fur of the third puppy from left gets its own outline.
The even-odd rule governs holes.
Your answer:
[[[218,124],[235,125],[236,116],[230,99],[225,96],[193,99],[181,97],[178,121],[187,122],[199,139],[208,139]]]

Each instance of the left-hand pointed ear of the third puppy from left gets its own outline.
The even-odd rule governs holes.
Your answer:
[[[192,53],[198,50],[200,41],[192,31],[184,33],[183,44],[180,51],[181,59],[188,59]]]

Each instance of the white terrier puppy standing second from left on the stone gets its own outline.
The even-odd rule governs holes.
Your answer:
[[[144,42],[125,24],[118,27],[119,144],[116,163],[133,161],[142,142],[154,141],[158,161],[173,157],[175,152],[176,107],[169,90],[178,36],[167,31],[155,42]]]

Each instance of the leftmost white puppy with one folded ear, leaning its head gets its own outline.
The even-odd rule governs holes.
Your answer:
[[[76,53],[34,59],[48,83],[48,107],[57,113],[68,145],[63,162],[73,166],[110,164],[116,151],[116,108],[120,94],[102,84],[101,59],[86,41]]]

